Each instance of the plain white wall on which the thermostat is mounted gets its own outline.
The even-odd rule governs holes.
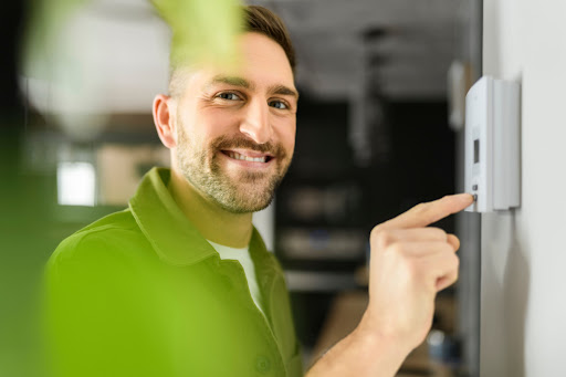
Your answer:
[[[481,376],[566,376],[565,36],[564,0],[484,0],[484,74],[523,97],[522,206],[482,216]]]

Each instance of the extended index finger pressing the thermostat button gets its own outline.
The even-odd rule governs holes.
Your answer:
[[[441,199],[420,203],[378,226],[380,229],[423,228],[443,218],[460,212],[473,203],[470,193],[449,195]]]

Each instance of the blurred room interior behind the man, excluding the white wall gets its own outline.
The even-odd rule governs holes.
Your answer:
[[[463,98],[482,72],[482,3],[248,3],[282,17],[297,53],[295,158],[254,223],[285,270],[308,366],[361,317],[371,228],[463,187]],[[125,208],[142,176],[169,164],[150,111],[154,95],[167,92],[170,32],[143,0],[9,7],[0,375],[23,376],[35,373],[23,360],[33,353],[32,299],[51,252]],[[56,28],[30,29],[46,20]],[[439,294],[433,328],[398,376],[479,375],[480,219],[438,226],[463,238],[461,279]]]

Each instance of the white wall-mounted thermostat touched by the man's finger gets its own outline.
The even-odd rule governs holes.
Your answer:
[[[520,206],[520,84],[483,76],[465,96],[467,211]]]

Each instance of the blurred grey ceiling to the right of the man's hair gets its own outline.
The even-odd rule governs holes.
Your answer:
[[[355,94],[367,82],[386,96],[446,96],[447,71],[457,49],[453,0],[255,0],[280,14],[297,50],[297,83],[323,97]],[[364,41],[364,32],[380,36]]]

